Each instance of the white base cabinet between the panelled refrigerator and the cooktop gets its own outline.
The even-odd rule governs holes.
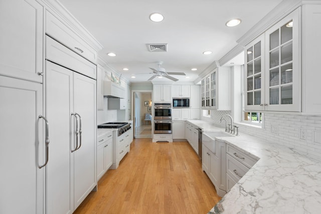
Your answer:
[[[107,131],[97,139],[97,180],[112,164],[112,131]]]

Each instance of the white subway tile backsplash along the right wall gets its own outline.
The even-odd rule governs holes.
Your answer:
[[[211,110],[211,118],[202,119],[219,126],[221,116],[230,111]],[[321,161],[321,115],[265,113],[264,128],[238,123],[240,134],[246,133],[285,145],[294,151]]]

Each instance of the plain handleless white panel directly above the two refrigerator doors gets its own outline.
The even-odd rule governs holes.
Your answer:
[[[97,66],[46,36],[46,59],[77,73],[96,79]]]

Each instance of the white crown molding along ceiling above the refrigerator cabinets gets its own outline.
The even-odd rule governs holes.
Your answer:
[[[37,0],[49,12],[59,18],[69,29],[74,31],[82,40],[88,43],[97,52],[103,46],[89,33],[89,31],[58,1],[58,0]]]

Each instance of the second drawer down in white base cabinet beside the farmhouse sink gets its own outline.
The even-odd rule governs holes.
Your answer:
[[[241,179],[249,170],[244,164],[236,160],[230,154],[226,155],[226,172],[235,180]]]

